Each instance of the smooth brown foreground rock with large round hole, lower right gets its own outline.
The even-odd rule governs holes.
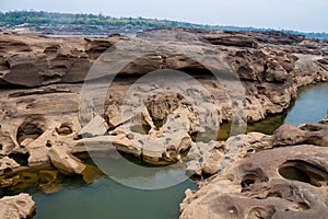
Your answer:
[[[196,193],[180,218],[325,218],[327,149],[295,146],[238,160]]]

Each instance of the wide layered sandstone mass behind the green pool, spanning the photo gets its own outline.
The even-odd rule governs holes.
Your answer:
[[[80,173],[83,168],[73,166],[84,166],[84,163],[72,153],[118,149],[152,164],[177,162],[190,150],[186,157],[190,161],[189,174],[213,174],[220,166],[212,161],[229,151],[222,151],[224,142],[195,143],[195,136],[215,129],[221,122],[232,120],[234,105],[244,107],[246,104],[246,117],[254,122],[281,113],[295,99],[298,87],[328,78],[325,42],[278,33],[199,32],[190,35],[191,32],[145,32],[136,39],[120,35],[50,38],[1,32],[0,173],[39,165]],[[128,45],[122,50],[112,47],[118,47],[121,42]],[[101,57],[110,47],[112,50]],[[129,53],[126,49],[130,49]],[[147,54],[129,62],[129,58],[140,53]],[[110,68],[89,76],[86,81],[95,87],[90,92],[92,104],[83,107],[81,89],[98,57],[98,61],[109,66],[128,62],[110,88],[106,83],[110,78],[107,73],[113,73]],[[219,72],[220,80],[203,65],[204,59],[224,64],[222,68],[226,71]],[[181,80],[169,78],[165,69],[189,76],[184,80],[186,89],[173,90]],[[156,70],[162,70],[159,71],[162,77],[164,73],[163,80],[159,77],[162,83],[140,80]],[[236,79],[232,77],[234,72],[241,79],[239,89],[245,91],[244,100],[227,92],[235,89],[231,82]],[[194,79],[201,85],[194,84]],[[97,99],[97,93],[104,90],[105,99]],[[86,113],[79,115],[81,108]],[[238,122],[246,123],[244,118]],[[303,127],[300,132],[314,128],[317,127]],[[305,139],[309,143],[317,142],[320,135],[318,130]],[[269,147],[267,142],[271,141],[271,137],[258,134],[246,138],[258,142],[258,148]],[[106,142],[114,147],[106,147]],[[260,150],[258,148],[249,150]],[[63,155],[60,151],[72,162],[58,162]],[[194,152],[195,158],[204,153],[208,157],[192,159]],[[73,161],[78,164],[72,166]]]

